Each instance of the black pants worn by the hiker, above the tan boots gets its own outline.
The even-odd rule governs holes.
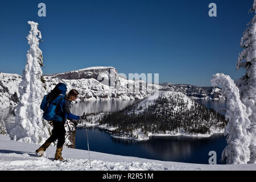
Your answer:
[[[47,142],[57,142],[57,148],[61,148],[65,143],[65,127],[64,122],[53,121],[52,135],[47,139]]]

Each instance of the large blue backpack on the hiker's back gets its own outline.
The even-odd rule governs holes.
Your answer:
[[[66,96],[67,85],[59,83],[41,102],[40,108],[44,111],[43,118],[47,121],[62,121],[63,99]]]

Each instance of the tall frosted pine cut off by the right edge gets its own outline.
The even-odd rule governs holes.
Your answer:
[[[256,0],[249,13],[255,12]],[[236,81],[240,89],[240,96],[243,104],[247,107],[247,114],[251,121],[249,133],[250,142],[250,163],[256,162],[256,15],[247,24],[243,32],[240,46],[244,48],[237,60],[237,69],[244,68],[246,73]]]

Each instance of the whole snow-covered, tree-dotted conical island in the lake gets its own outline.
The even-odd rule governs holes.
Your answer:
[[[147,140],[151,135],[210,137],[224,133],[224,115],[180,92],[160,91],[115,113],[89,114],[78,127],[97,126],[112,137]]]

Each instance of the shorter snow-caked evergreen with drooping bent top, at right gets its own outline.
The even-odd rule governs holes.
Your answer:
[[[226,119],[229,121],[225,127],[225,135],[228,135],[228,145],[222,152],[222,160],[227,164],[246,164],[250,160],[250,138],[247,129],[250,119],[246,113],[246,106],[240,100],[239,89],[230,76],[223,73],[213,75],[213,86],[222,84],[222,94],[227,97]]]

